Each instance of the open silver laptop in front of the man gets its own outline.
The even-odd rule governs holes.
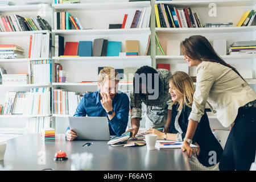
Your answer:
[[[107,117],[68,117],[68,120],[77,140],[110,140]]]

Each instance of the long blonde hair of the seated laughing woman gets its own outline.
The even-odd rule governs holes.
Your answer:
[[[177,110],[182,110],[184,105],[192,107],[195,92],[192,78],[185,72],[177,71],[171,76],[170,85],[175,93],[180,96],[179,100],[173,102],[173,104],[178,105]]]

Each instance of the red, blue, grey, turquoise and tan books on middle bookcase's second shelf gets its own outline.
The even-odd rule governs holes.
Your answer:
[[[150,39],[148,40],[150,41]],[[100,38],[92,41],[65,42],[64,37],[55,35],[55,56],[119,56],[122,42]],[[148,48],[147,48],[148,49]],[[139,40],[126,40],[126,56],[139,54]]]

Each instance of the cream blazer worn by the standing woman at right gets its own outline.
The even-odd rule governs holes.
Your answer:
[[[200,122],[205,104],[224,127],[237,117],[238,108],[256,100],[256,93],[231,68],[202,61],[196,68],[196,90],[189,119]]]

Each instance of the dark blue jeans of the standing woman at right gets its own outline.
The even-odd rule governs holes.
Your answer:
[[[221,171],[247,171],[256,153],[256,107],[241,107],[220,160]]]

